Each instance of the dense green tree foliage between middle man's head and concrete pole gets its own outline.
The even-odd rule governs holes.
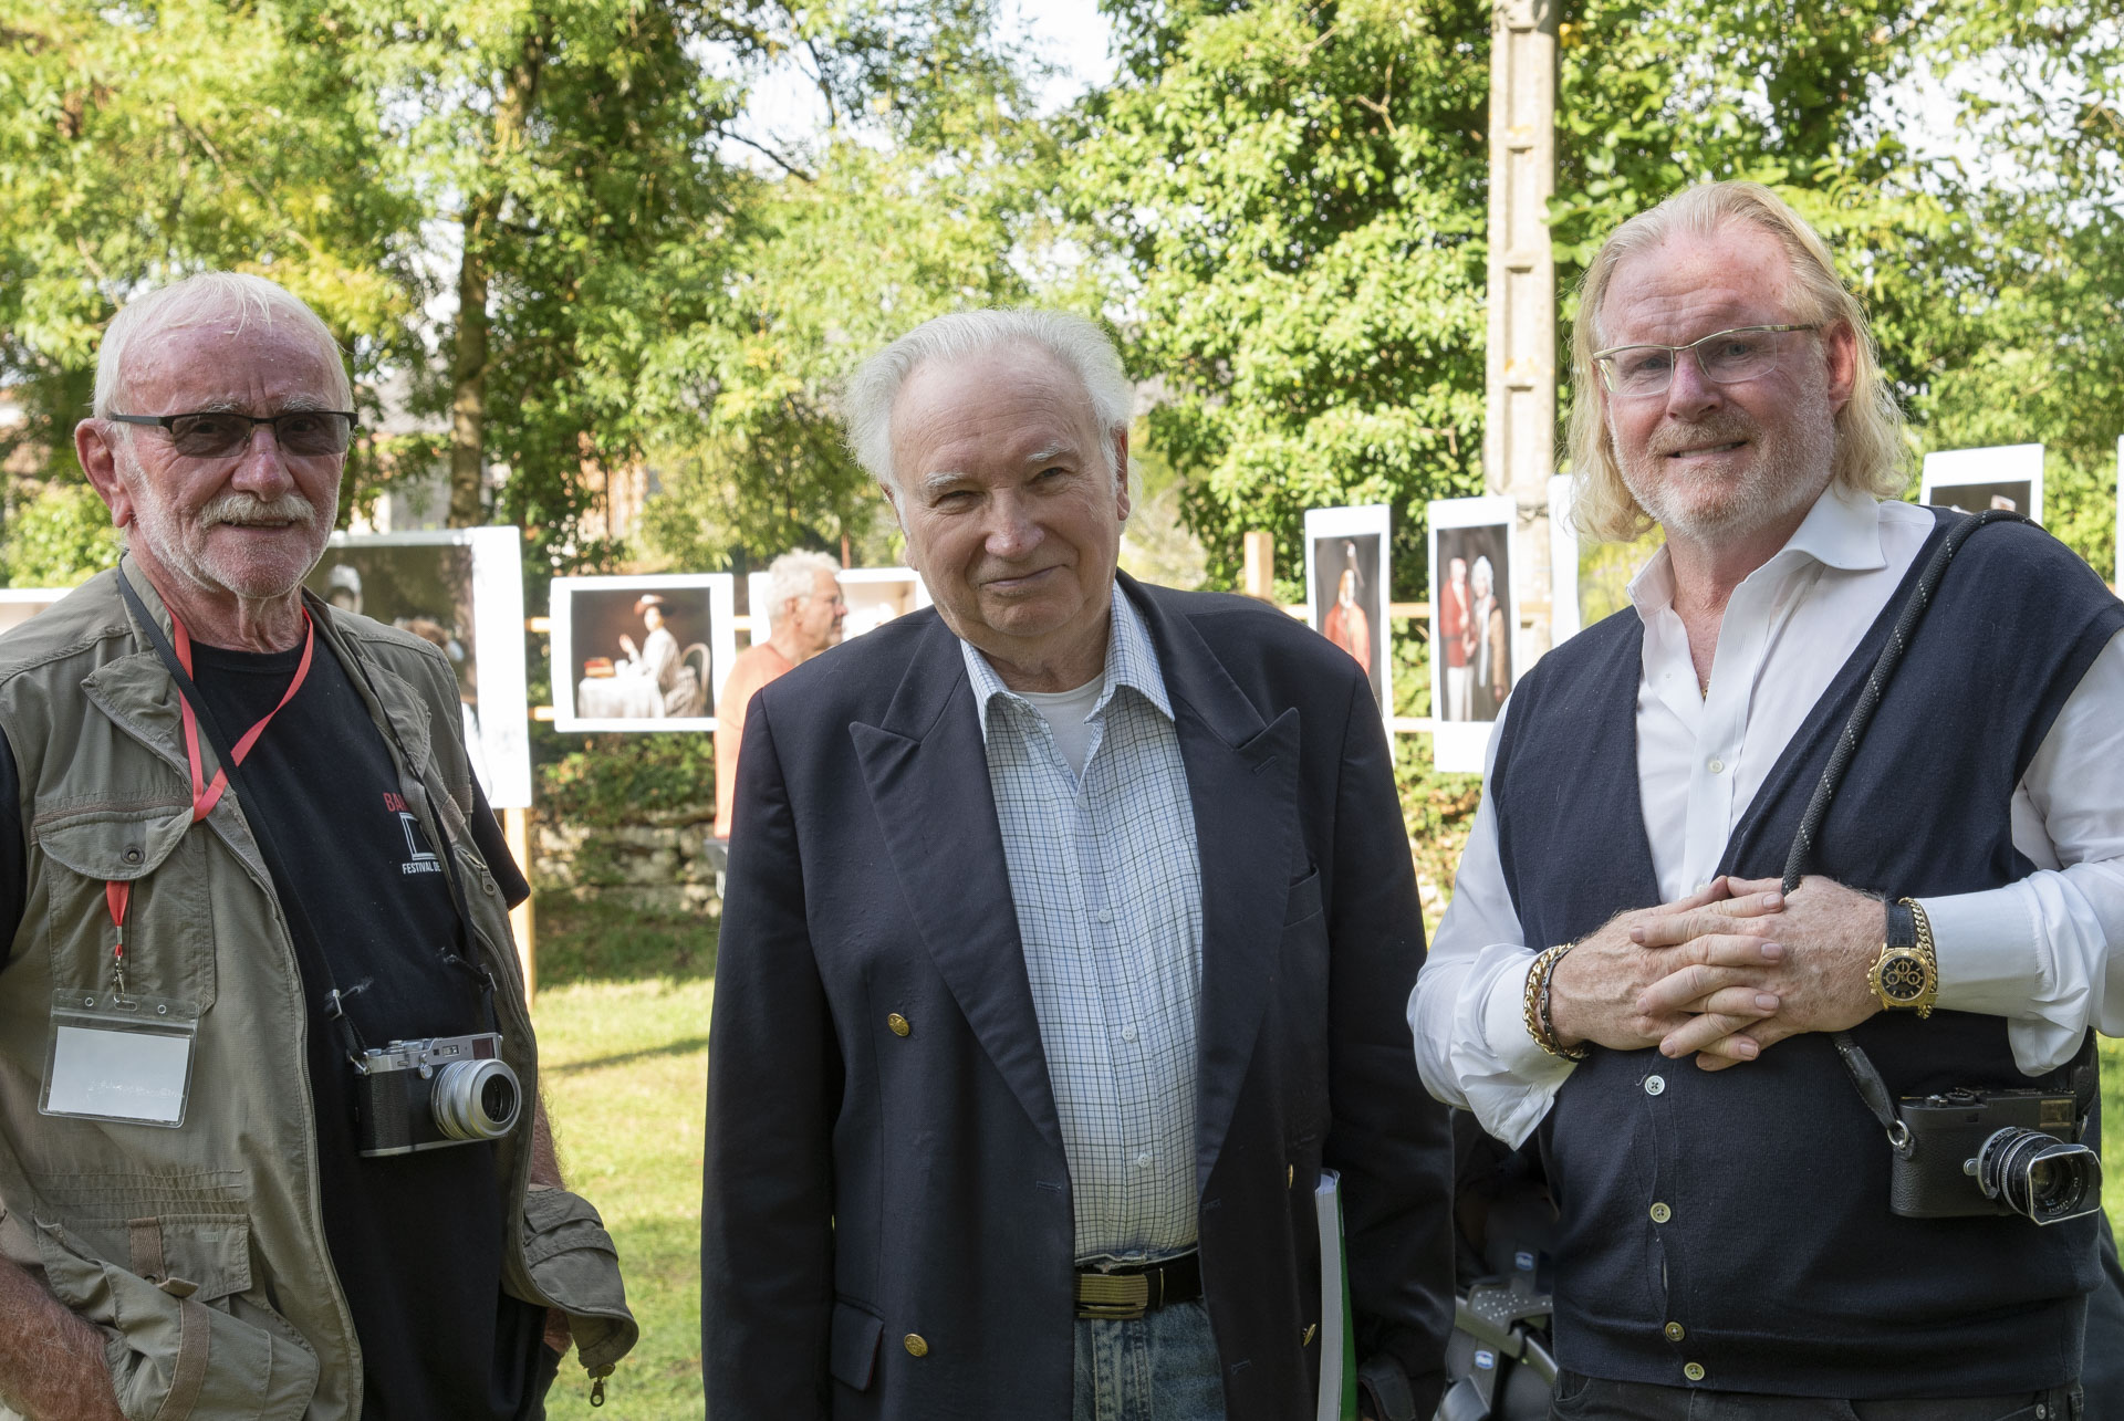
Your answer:
[[[1306,508],[1480,493],[1489,6],[1217,0],[1111,8],[1126,74],[1079,115],[1085,223],[1149,438],[1187,478],[1211,578]]]

